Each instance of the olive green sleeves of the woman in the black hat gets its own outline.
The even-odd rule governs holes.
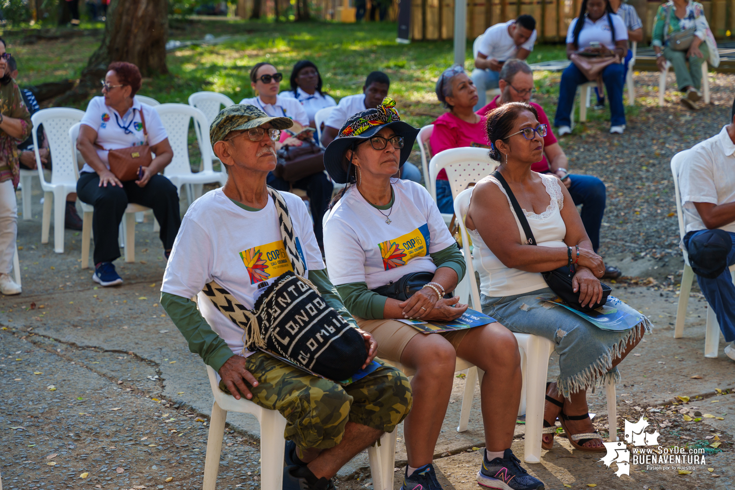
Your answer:
[[[437,269],[439,267],[450,267],[457,273],[457,282],[462,281],[465,277],[465,256],[459,251],[456,243],[449,245],[444,250],[429,253],[431,259],[434,260]],[[356,317],[365,318],[367,320],[378,320],[383,318],[383,310],[385,308],[386,296],[381,296],[376,292],[368,289],[365,282],[351,282],[340,284],[337,286],[337,292],[340,293],[343,303],[347,309]]]

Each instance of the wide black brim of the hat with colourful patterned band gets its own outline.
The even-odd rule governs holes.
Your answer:
[[[359,136],[338,137],[327,145],[324,151],[324,168],[331,179],[337,184],[347,184],[347,169],[343,166],[343,156],[348,148],[352,145],[359,145],[369,138],[378,134],[381,129],[391,128],[398,136],[404,137],[404,147],[401,148],[401,158],[398,160],[398,168],[403,167],[413,149],[414,142],[418,136],[418,129],[402,120],[392,121],[391,123],[373,126],[365,130]]]

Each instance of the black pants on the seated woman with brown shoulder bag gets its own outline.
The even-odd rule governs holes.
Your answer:
[[[155,175],[146,187],[138,187],[135,181],[123,182],[123,187],[99,187],[99,176],[85,172],[76,182],[79,199],[94,206],[92,231],[94,232],[94,263],[112,262],[120,256],[118,231],[128,203],[153,209],[153,215],[161,226],[164,250],[171,250],[179,233],[182,219],[179,215],[179,195],[176,186],[164,176]]]

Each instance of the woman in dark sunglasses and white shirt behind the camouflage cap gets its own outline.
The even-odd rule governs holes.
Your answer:
[[[278,95],[282,79],[283,73],[276,70],[275,66],[265,62],[257,63],[250,71],[250,86],[253,87],[255,97],[243,98],[240,104],[254,105],[271,118],[290,118],[301,126],[309,126],[309,117],[301,102]]]

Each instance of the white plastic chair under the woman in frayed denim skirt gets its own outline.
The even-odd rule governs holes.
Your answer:
[[[467,273],[465,277],[470,278],[470,294],[473,305],[480,304],[480,292],[475,280],[475,267],[472,253],[470,251],[470,239],[465,227],[467,209],[470,208],[470,196],[472,189],[463,190],[454,198],[454,212],[459,221],[459,229],[462,234],[462,249],[465,253]],[[518,411],[526,413],[526,436],[524,444],[523,461],[526,463],[539,463],[541,461],[541,430],[544,419],[544,400],[546,392],[546,376],[548,375],[548,359],[553,353],[554,344],[545,337],[531,334],[516,334],[518,347],[521,354],[521,372],[523,372],[523,388],[521,389],[521,406]],[[467,379],[469,380],[469,375]],[[480,380],[482,381],[482,380]],[[473,385],[474,388],[474,385]],[[615,403],[615,384],[607,383],[605,386],[607,397],[607,413],[609,419],[609,441],[617,441],[617,406]],[[465,387],[467,393],[467,387]],[[465,400],[462,400],[464,405]],[[525,405],[525,406],[524,406]]]

